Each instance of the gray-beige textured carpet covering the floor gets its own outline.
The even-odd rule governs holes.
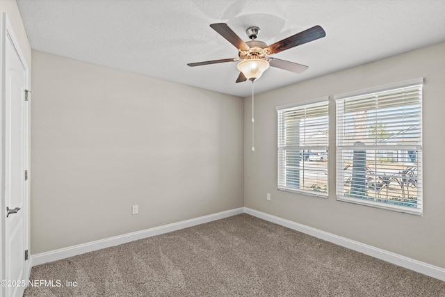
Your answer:
[[[445,282],[248,214],[35,266],[31,280],[63,287],[24,296],[445,296]]]

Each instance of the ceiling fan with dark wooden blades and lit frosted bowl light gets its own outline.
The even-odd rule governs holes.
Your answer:
[[[317,40],[318,38],[325,37],[326,33],[321,26],[313,26],[305,31],[291,35],[281,41],[275,42],[272,45],[266,45],[265,42],[256,40],[259,33],[257,26],[249,27],[245,32],[247,33],[250,41],[244,42],[241,38],[232,31],[232,29],[225,23],[217,23],[210,25],[213,30],[218,32],[223,38],[232,43],[238,49],[239,58],[225,58],[213,61],[204,61],[198,63],[188,63],[188,66],[195,67],[201,65],[209,65],[225,62],[237,62],[236,66],[240,71],[237,83],[242,81],[254,81],[259,79],[261,74],[270,66],[277,67],[283,70],[287,70],[295,73],[302,73],[307,70],[308,66],[293,63],[290,61],[281,60],[278,58],[272,58],[273,54],[280,53],[286,49],[291,49],[298,45],[305,44],[310,41]]]

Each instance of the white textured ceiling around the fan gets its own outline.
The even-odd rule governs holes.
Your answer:
[[[237,49],[209,24],[243,40],[259,26],[268,45],[314,25],[326,37],[276,54],[308,65],[302,74],[270,67],[255,93],[445,41],[445,0],[17,0],[31,48],[221,93],[235,83]],[[445,54],[445,53],[444,53]]]

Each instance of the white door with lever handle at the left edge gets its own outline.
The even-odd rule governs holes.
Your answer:
[[[28,69],[13,31],[3,15],[4,88],[4,275],[10,282],[5,296],[22,296],[27,281],[24,253],[28,236],[28,106],[25,101]],[[9,211],[8,211],[9,209]]]

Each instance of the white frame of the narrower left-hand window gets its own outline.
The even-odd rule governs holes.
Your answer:
[[[284,130],[284,124],[282,121],[284,121],[284,119],[282,118],[282,116],[280,115],[280,113],[284,113],[285,111],[291,111],[291,109],[303,109],[305,107],[311,107],[311,106],[321,106],[325,104],[326,105],[326,122],[325,122],[325,126],[327,127],[327,137],[326,137],[326,143],[325,145],[310,145],[310,146],[305,146],[305,145],[282,145],[284,138],[286,138],[286,131]],[[329,102],[329,97],[328,96],[324,96],[324,97],[319,97],[316,99],[311,99],[311,100],[305,100],[304,102],[298,102],[298,103],[293,103],[293,104],[286,104],[286,105],[281,105],[281,106],[276,106],[276,111],[277,111],[277,189],[280,191],[287,191],[287,192],[291,192],[291,193],[300,193],[300,194],[305,194],[305,195],[311,195],[311,196],[316,196],[318,198],[328,198],[329,195],[329,166],[328,166],[328,162],[329,162],[329,127],[330,127],[330,123],[329,123],[329,109],[330,109],[330,102]],[[306,117],[305,117],[306,119]],[[281,122],[280,122],[281,121]],[[293,147],[294,149],[299,149],[300,147],[302,147],[302,151],[303,150],[323,150],[326,152],[327,155],[327,161],[325,162],[326,164],[326,188],[325,188],[325,192],[322,191],[309,191],[309,190],[305,190],[302,188],[292,188],[291,186],[285,186],[286,184],[286,175],[284,173],[285,166],[284,163],[285,161],[283,161],[283,159],[285,158],[284,156],[281,156],[280,154],[284,154],[282,151],[286,150],[286,147]],[[304,152],[301,153],[302,156],[304,157]],[[282,160],[282,161],[280,161]],[[303,174],[304,174],[304,168],[299,169],[299,170],[303,170]],[[323,189],[324,190],[324,189]]]

